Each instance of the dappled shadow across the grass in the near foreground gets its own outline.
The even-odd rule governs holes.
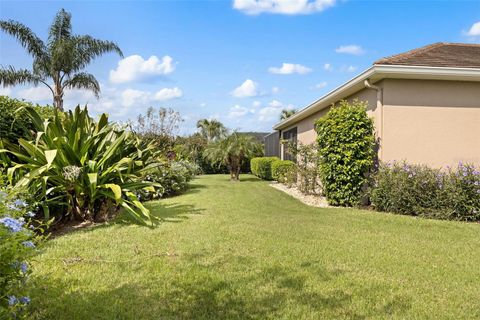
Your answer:
[[[375,285],[360,291],[318,291],[308,283],[311,279],[298,274],[301,269],[285,269],[280,265],[233,278],[195,263],[177,271],[180,272],[155,281],[101,289],[94,287],[96,284],[85,287],[79,280],[32,279],[34,316],[37,319],[275,319],[295,318],[301,312],[311,318],[365,319],[392,314],[401,317],[410,308],[405,297]],[[334,272],[324,278],[333,281],[339,276],[340,273]],[[369,296],[372,291],[378,291],[378,296],[390,292],[391,299],[384,297],[384,302],[364,309],[367,314],[362,314],[356,310],[358,300],[355,303],[353,300]],[[42,296],[48,298],[43,300]]]

